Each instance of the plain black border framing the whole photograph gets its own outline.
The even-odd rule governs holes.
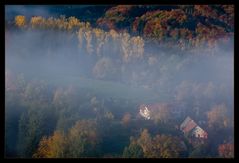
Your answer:
[[[1,120],[2,120],[2,123],[1,123],[1,129],[2,129],[2,132],[1,132],[1,145],[2,145],[2,148],[1,148],[1,158],[5,158],[5,153],[4,153],[4,138],[5,138],[5,5],[74,5],[74,4],[92,4],[92,5],[105,5],[105,4],[109,4],[109,5],[117,5],[117,4],[145,4],[145,5],[156,5],[156,4],[160,4],[160,5],[173,5],[173,4],[232,4],[235,6],[235,17],[234,17],[234,22],[235,22],[235,26],[234,26],[234,143],[235,143],[235,147],[234,147],[234,151],[235,151],[235,157],[233,159],[221,159],[221,158],[212,158],[213,160],[231,160],[231,161],[234,161],[234,160],[238,160],[238,139],[239,138],[239,135],[238,135],[238,122],[239,122],[239,119],[237,118],[237,115],[239,113],[239,111],[237,111],[237,108],[238,108],[238,101],[237,101],[237,97],[238,97],[238,90],[239,90],[239,87],[238,87],[238,72],[239,72],[239,68],[238,68],[238,54],[239,54],[239,50],[238,50],[238,28],[239,26],[237,25],[237,21],[238,20],[238,14],[239,14],[239,9],[236,5],[236,1],[237,0],[117,0],[117,1],[113,1],[113,0],[102,0],[102,1],[97,1],[97,0],[86,0],[86,1],[77,1],[77,0],[67,0],[65,2],[62,2],[62,1],[53,1],[53,0],[4,0],[4,2],[0,2],[1,4],[1,16],[0,16],[0,19],[3,23],[1,23],[2,25],[2,28],[1,28],[1,33],[2,33],[2,43],[1,46],[2,46],[2,54],[1,54],[1,59],[0,61],[2,62],[1,63],[1,66],[2,67],[2,74],[1,74],[1,89],[2,89],[2,93],[1,95],[2,98],[1,98],[1,104],[2,107],[1,107]],[[3,55],[4,54],[4,55]],[[12,159],[12,158],[5,158],[5,159]],[[14,160],[15,158],[13,158]],[[18,158],[16,158],[18,159]],[[81,158],[79,158],[81,159]],[[25,159],[24,159],[25,160]],[[39,160],[42,160],[42,159],[39,159]],[[43,159],[44,160],[44,159]],[[52,160],[52,159],[51,159]],[[54,159],[53,159],[54,160]],[[62,159],[62,160],[66,160],[66,159]],[[99,159],[100,160],[100,159]],[[138,159],[136,159],[138,160]],[[143,159],[144,160],[144,159]],[[149,160],[152,160],[152,159],[149,159]],[[156,159],[157,160],[157,159]],[[160,159],[161,160],[161,159]],[[162,159],[162,160],[165,160],[165,159]],[[172,159],[169,159],[168,161],[170,161]],[[177,160],[182,160],[182,161],[186,161],[186,160],[191,160],[191,159],[181,159],[181,158],[178,158],[176,159]],[[197,160],[197,159],[193,159],[193,160]],[[200,159],[201,160],[201,159]],[[211,159],[204,159],[204,160],[208,160],[210,161]]]

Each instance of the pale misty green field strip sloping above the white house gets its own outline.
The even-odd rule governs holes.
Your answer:
[[[85,77],[61,77],[56,76],[49,80],[49,84],[62,86],[73,85],[80,89],[88,90],[91,94],[101,97],[112,97],[132,102],[153,103],[165,101],[168,97],[162,93],[158,95],[155,92],[139,86],[129,86],[118,82],[89,79]]]

